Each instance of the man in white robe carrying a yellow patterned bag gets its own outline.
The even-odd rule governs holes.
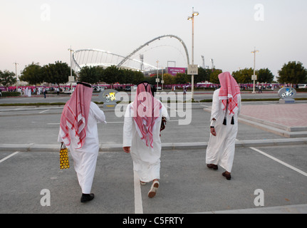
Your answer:
[[[82,190],[80,201],[94,198],[91,193],[99,151],[97,123],[106,123],[105,114],[91,102],[93,89],[87,83],[78,83],[63,108],[58,142],[69,148]]]

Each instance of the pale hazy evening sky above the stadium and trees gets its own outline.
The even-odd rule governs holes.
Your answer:
[[[127,56],[147,41],[165,34],[181,38],[194,64],[222,71],[269,68],[288,61],[307,68],[306,0],[0,0],[0,70],[20,72],[28,64],[68,63],[70,51],[96,48]],[[187,61],[175,39],[144,53],[151,65]],[[162,41],[161,41],[162,42]],[[159,47],[160,46],[160,47]],[[182,49],[183,50],[183,49]]]

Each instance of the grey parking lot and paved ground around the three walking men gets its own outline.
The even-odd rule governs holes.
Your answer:
[[[205,165],[210,104],[193,106],[189,125],[171,118],[162,133],[160,189],[153,199],[147,197],[150,185],[140,186],[131,157],[122,150],[123,119],[113,119],[108,110],[110,124],[99,131],[95,199],[86,204],[80,203],[73,161],[68,170],[58,167],[56,124],[46,141],[33,139],[46,138],[43,128],[22,143],[13,139],[14,131],[1,132],[0,213],[306,214],[306,108],[306,103],[245,103],[230,181],[222,177],[222,168],[212,171]],[[259,109],[266,111],[256,114]],[[301,125],[289,124],[302,112]],[[10,118],[2,116],[1,125]]]

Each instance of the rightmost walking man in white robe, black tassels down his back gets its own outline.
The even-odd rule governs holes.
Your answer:
[[[207,167],[217,170],[218,165],[226,171],[223,176],[231,179],[234,162],[238,115],[241,108],[241,93],[238,84],[229,72],[219,74],[221,88],[214,91],[210,125],[210,138],[206,152]]]

